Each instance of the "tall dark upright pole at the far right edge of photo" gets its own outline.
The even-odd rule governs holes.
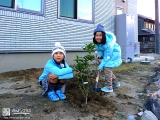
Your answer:
[[[158,0],[155,0],[155,53],[160,54],[160,34],[159,34],[159,8],[158,8]]]

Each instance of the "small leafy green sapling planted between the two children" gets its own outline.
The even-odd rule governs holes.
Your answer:
[[[90,70],[90,62],[95,60],[95,56],[92,55],[95,45],[93,43],[85,45],[86,46],[83,48],[83,50],[87,51],[88,54],[83,57],[76,55],[76,59],[74,60],[76,61],[74,71],[76,85],[78,86],[79,91],[85,97],[85,105],[87,105],[88,97],[93,90],[93,80],[91,79],[93,74]]]

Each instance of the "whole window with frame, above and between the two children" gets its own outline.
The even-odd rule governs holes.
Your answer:
[[[94,0],[59,0],[59,18],[93,22]]]

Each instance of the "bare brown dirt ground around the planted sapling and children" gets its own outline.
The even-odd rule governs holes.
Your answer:
[[[42,68],[1,73],[0,120],[126,120],[128,116],[144,110],[149,81],[155,74],[155,67],[160,64],[160,55],[149,56],[155,59],[149,65],[141,62],[123,63],[114,69],[121,86],[115,88],[113,93],[93,92],[87,105],[84,105],[85,100],[74,79],[67,83],[66,100],[52,102],[41,95],[43,90],[38,77]],[[99,87],[103,83],[104,74],[101,72]],[[7,108],[10,109],[10,117],[2,117]],[[26,114],[15,114],[17,111]]]

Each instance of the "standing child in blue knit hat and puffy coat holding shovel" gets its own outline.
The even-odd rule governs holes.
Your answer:
[[[116,68],[122,64],[121,48],[116,43],[116,37],[113,33],[105,32],[104,27],[98,24],[94,30],[93,43],[96,44],[98,54],[98,70],[104,70],[105,87],[101,88],[104,92],[113,92],[113,87],[119,87],[116,76],[112,72],[112,68]],[[96,58],[97,59],[97,58]]]

